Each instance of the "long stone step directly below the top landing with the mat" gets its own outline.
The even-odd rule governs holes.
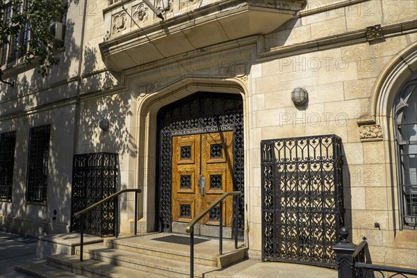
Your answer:
[[[79,251],[76,253],[79,255]],[[54,265],[56,256],[48,258],[48,264]],[[59,257],[62,258],[62,257]],[[94,259],[113,265],[122,265],[126,268],[156,273],[166,277],[189,277],[190,262],[177,259],[156,257],[149,254],[140,254],[126,250],[117,250],[104,247],[100,243],[86,245],[83,249],[84,259]],[[57,265],[54,265],[57,266]],[[203,273],[218,270],[217,266],[201,265],[194,263],[196,277],[202,277]]]

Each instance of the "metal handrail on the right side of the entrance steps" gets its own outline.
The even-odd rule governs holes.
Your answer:
[[[231,191],[223,193],[218,199],[216,199],[210,206],[208,206],[204,211],[199,213],[193,220],[188,222],[186,227],[186,232],[190,234],[190,277],[194,277],[194,225],[201,220],[204,215],[209,213],[215,206],[220,204],[220,217],[219,217],[219,252],[223,253],[223,204],[222,201],[229,196],[241,196],[240,191]],[[236,202],[234,202],[234,213],[235,213],[235,227],[234,227],[234,238],[235,238],[235,248],[238,249],[238,207],[239,207],[239,198],[236,197]]]

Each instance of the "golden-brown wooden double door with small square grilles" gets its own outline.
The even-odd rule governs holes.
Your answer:
[[[190,222],[215,199],[233,190],[233,131],[172,138],[172,220]],[[232,199],[223,203],[223,225],[231,227]],[[199,224],[218,225],[215,207]]]

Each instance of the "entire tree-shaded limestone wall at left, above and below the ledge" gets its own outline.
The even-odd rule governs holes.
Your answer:
[[[0,83],[0,133],[16,131],[12,199],[0,199],[0,229],[40,236],[70,230],[72,156],[79,93],[83,13],[70,1],[65,48],[57,51],[60,64],[42,78],[34,65],[3,68]],[[29,129],[51,124],[47,202],[26,202]],[[54,214],[56,211],[56,215]],[[55,217],[55,219],[53,219]]]

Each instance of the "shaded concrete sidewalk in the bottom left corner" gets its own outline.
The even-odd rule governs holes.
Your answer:
[[[36,258],[37,238],[8,234],[0,231],[0,277],[27,278],[32,277],[13,268],[23,263],[39,261]]]

